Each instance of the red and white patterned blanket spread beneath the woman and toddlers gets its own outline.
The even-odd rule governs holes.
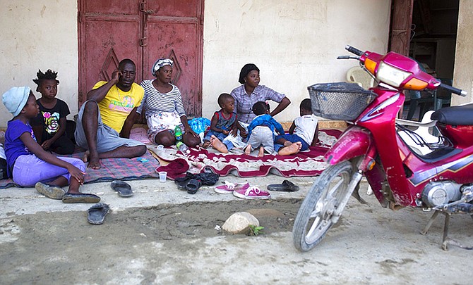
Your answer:
[[[250,156],[236,149],[232,153],[219,153],[212,148],[191,148],[191,153],[184,155],[175,148],[158,150],[149,146],[160,160],[172,162],[184,158],[189,165],[189,172],[214,172],[220,176],[235,175],[239,177],[263,177],[270,173],[283,177],[316,176],[321,174],[326,164],[323,155],[332,146],[341,132],[336,129],[323,129],[319,132],[318,146],[311,146],[308,151],[301,151],[292,156],[271,156],[263,158]]]

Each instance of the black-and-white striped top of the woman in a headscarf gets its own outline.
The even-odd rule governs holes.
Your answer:
[[[167,93],[161,93],[152,86],[152,80],[143,80],[140,85],[145,89],[145,96],[138,110],[136,110],[137,113],[143,113],[143,108],[145,108],[146,118],[162,112],[177,112],[179,117],[186,115],[182,104],[181,91],[175,85],[171,84],[172,90]]]

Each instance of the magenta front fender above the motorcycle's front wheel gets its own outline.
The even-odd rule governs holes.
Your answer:
[[[335,165],[357,156],[366,156],[360,167],[361,170],[365,170],[375,155],[376,148],[373,146],[371,132],[361,127],[352,127],[342,134],[323,158],[328,164]]]

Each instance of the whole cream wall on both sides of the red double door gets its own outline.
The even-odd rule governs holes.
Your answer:
[[[51,68],[59,72],[58,97],[77,113],[77,1],[1,4],[0,94],[13,86],[35,90],[37,70]],[[299,102],[309,96],[307,86],[345,80],[346,70],[357,64],[335,59],[347,54],[345,44],[386,51],[389,16],[390,1],[205,0],[203,115],[218,109],[220,93],[239,86],[241,67],[255,63],[261,84],[293,102],[277,116],[291,121],[299,114]],[[0,127],[10,119],[0,104]]]

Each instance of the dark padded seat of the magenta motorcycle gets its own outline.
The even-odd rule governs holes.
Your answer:
[[[445,125],[473,125],[473,103],[438,109],[431,115],[431,120]]]

